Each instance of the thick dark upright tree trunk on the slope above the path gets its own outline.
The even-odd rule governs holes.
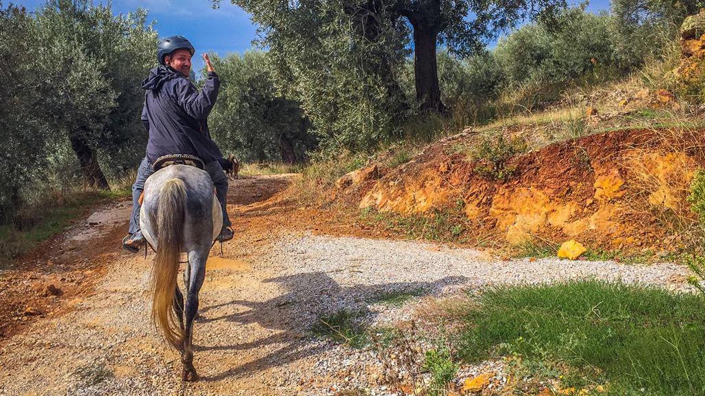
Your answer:
[[[446,106],[441,102],[439,70],[436,63],[436,43],[438,31],[424,23],[413,23],[414,27],[414,77],[416,99],[421,110],[445,113]]]

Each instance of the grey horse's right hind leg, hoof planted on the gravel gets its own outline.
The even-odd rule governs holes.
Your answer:
[[[192,348],[192,333],[193,319],[198,312],[198,292],[203,286],[203,281],[206,275],[206,260],[209,250],[205,252],[190,252],[188,253],[189,279],[187,280],[187,293],[184,305],[184,338],[183,352],[181,352],[181,363],[183,371],[181,378],[183,381],[198,381],[198,374],[193,366],[193,348]]]

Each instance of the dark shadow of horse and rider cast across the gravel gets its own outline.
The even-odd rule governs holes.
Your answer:
[[[341,286],[326,272],[309,272],[266,279],[264,283],[277,283],[285,293],[264,302],[232,300],[218,305],[202,307],[197,321],[208,323],[230,321],[238,325],[258,324],[262,328],[278,331],[276,334],[252,342],[231,345],[194,345],[195,350],[242,351],[258,350],[267,345],[283,344],[274,352],[251,362],[234,366],[223,373],[202,378],[219,381],[229,376],[253,373],[268,367],[283,366],[299,359],[317,355],[332,347],[331,343],[307,342],[312,337],[310,329],[319,324],[320,318],[341,309],[363,312],[366,320],[374,319],[376,312],[369,305],[388,295],[410,293],[416,296],[435,295],[446,286],[465,283],[465,276],[447,276],[436,281],[399,282],[378,285]],[[221,316],[210,316],[209,311],[227,306],[249,308]]]

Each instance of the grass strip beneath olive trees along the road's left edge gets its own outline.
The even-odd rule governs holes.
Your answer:
[[[63,197],[63,203],[47,202],[21,209],[11,224],[0,225],[0,264],[63,232],[87,207],[102,200],[128,197],[131,193],[128,189],[74,193]]]

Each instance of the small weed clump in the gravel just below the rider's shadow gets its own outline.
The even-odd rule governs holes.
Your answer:
[[[369,342],[364,326],[360,323],[364,312],[341,309],[319,319],[311,331],[319,337],[331,338],[336,343],[350,347],[364,347]]]

